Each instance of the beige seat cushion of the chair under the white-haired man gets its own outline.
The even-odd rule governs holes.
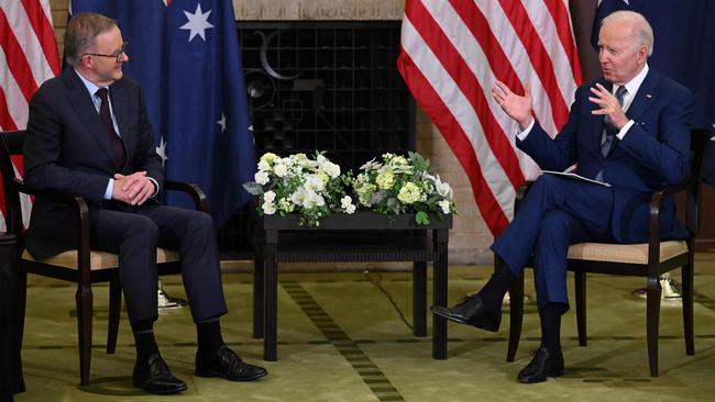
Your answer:
[[[662,242],[660,244],[661,261],[684,253],[688,253],[688,243],[685,242]],[[569,247],[569,258],[593,261],[648,264],[648,244],[579,243]]]

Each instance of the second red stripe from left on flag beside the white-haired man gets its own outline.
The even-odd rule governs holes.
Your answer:
[[[515,187],[519,186],[524,181],[519,169],[519,161],[498,122],[496,122],[494,115],[488,111],[484,89],[480,87],[480,82],[474,75],[465,72],[470,70],[470,67],[460,57],[460,53],[454,48],[442,29],[435,21],[433,15],[421,5],[421,3],[416,3],[415,8],[406,10],[408,19],[418,31],[424,33],[422,38],[437,55],[437,58],[441,60],[450,77],[453,80],[461,79],[460,89],[463,96],[469,100],[472,108],[477,111],[476,116],[481,118],[482,125],[485,126],[485,132],[492,133],[492,135],[486,136],[488,144],[483,144],[486,145],[484,149],[491,148],[494,152],[494,156],[507,172],[509,180]]]

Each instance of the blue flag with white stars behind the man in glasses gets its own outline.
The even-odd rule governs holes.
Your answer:
[[[144,90],[166,178],[199,185],[222,225],[249,200],[256,166],[232,1],[72,0],[70,13],[88,11],[129,42],[123,70]]]

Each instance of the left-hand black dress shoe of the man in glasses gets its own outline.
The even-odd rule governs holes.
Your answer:
[[[148,393],[162,395],[186,391],[186,382],[172,375],[168,366],[158,354],[145,359],[136,359],[132,383]]]

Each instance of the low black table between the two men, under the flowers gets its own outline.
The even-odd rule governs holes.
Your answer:
[[[448,242],[452,216],[415,223],[415,215],[337,213],[320,226],[297,216],[254,214],[253,336],[264,337],[265,360],[277,360],[278,263],[413,261],[413,333],[427,336],[427,263],[432,261],[433,304],[447,304]],[[427,241],[432,232],[432,244]],[[447,358],[447,322],[432,315],[432,357]]]

